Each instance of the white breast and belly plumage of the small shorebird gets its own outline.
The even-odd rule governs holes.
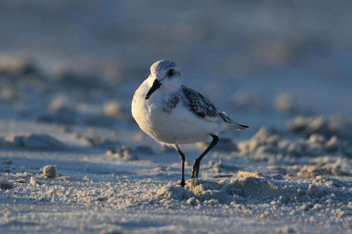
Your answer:
[[[210,141],[210,133],[218,134],[223,123],[208,121],[196,116],[178,102],[171,112],[162,108],[165,97],[156,91],[148,100],[149,90],[146,81],[137,89],[132,100],[132,115],[139,127],[159,143],[186,144]]]

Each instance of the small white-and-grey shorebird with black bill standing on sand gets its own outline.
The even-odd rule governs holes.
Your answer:
[[[184,187],[185,157],[180,144],[212,141],[194,161],[191,179],[198,178],[200,161],[218,142],[219,132],[248,126],[232,121],[202,94],[182,85],[182,80],[181,69],[175,62],[155,62],[149,77],[134,93],[132,115],[154,140],[175,147],[182,163],[180,185]]]

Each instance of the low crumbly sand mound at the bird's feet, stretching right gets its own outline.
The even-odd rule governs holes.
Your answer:
[[[216,204],[263,204],[279,201],[281,205],[302,205],[305,202],[330,204],[352,202],[352,192],[339,188],[333,183],[290,183],[267,180],[265,178],[236,178],[230,182],[188,180],[185,188],[168,184],[154,191],[153,195],[166,200],[188,200],[195,198],[199,202],[209,200]],[[333,199],[333,200],[331,200]]]

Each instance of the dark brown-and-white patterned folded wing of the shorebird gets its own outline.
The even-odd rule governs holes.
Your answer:
[[[241,129],[247,128],[247,126],[238,125],[237,123],[232,121],[225,114],[225,112],[221,112],[218,108],[214,106],[213,103],[209,101],[209,99],[207,99],[205,96],[198,93],[197,91],[187,88],[186,86],[182,86],[181,92],[184,94],[182,95],[184,97],[183,102],[195,115],[210,121],[225,121],[228,123],[232,123],[241,127]]]

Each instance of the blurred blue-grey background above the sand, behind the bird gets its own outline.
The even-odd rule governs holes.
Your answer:
[[[352,1],[0,1],[0,118],[138,129],[158,60],[233,120],[352,115]],[[126,122],[127,121],[127,122]]]

